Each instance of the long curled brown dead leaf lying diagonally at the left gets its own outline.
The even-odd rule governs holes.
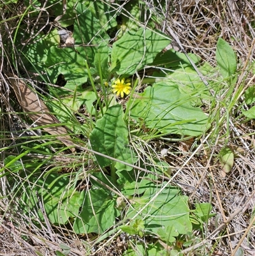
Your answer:
[[[55,116],[49,114],[50,111],[45,103],[38,98],[34,91],[31,91],[22,79],[18,79],[17,75],[14,75],[14,78],[9,78],[9,80],[17,96],[18,103],[20,103],[22,109],[27,112],[27,115],[34,121],[34,123],[38,126],[60,123]],[[49,126],[44,127],[43,130],[51,135],[57,135],[57,139],[61,140],[66,146],[73,146],[71,137],[67,135],[68,132],[63,126]],[[71,151],[74,152],[75,148],[72,147]]]

